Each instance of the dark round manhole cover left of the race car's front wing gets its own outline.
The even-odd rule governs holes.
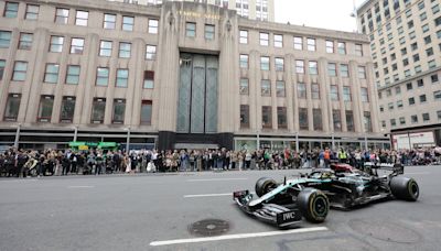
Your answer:
[[[228,230],[229,223],[219,219],[204,219],[189,226],[190,233],[203,237],[220,236]]]

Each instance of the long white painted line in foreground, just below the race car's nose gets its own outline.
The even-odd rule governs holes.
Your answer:
[[[270,232],[238,233],[238,234],[227,234],[227,236],[219,236],[219,237],[203,237],[203,238],[193,238],[193,239],[153,241],[153,242],[150,242],[150,245],[197,243],[197,242],[207,242],[207,241],[235,240],[235,239],[246,239],[246,238],[257,238],[257,237],[272,237],[272,236],[290,234],[290,233],[315,232],[315,231],[325,231],[325,230],[329,230],[329,229],[326,227],[314,227],[314,228],[279,230],[279,231],[270,231]]]

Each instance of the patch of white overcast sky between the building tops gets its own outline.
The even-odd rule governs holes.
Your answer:
[[[355,0],[359,7],[365,0]],[[356,31],[354,0],[275,0],[276,22],[338,31]]]

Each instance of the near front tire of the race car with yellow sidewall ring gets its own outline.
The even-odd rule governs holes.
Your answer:
[[[314,188],[305,188],[300,192],[297,205],[303,217],[314,223],[323,222],[330,211],[327,196]]]

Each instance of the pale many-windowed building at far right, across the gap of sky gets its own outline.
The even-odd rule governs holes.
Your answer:
[[[396,149],[441,144],[439,0],[370,0],[357,10],[370,39],[381,128]]]

